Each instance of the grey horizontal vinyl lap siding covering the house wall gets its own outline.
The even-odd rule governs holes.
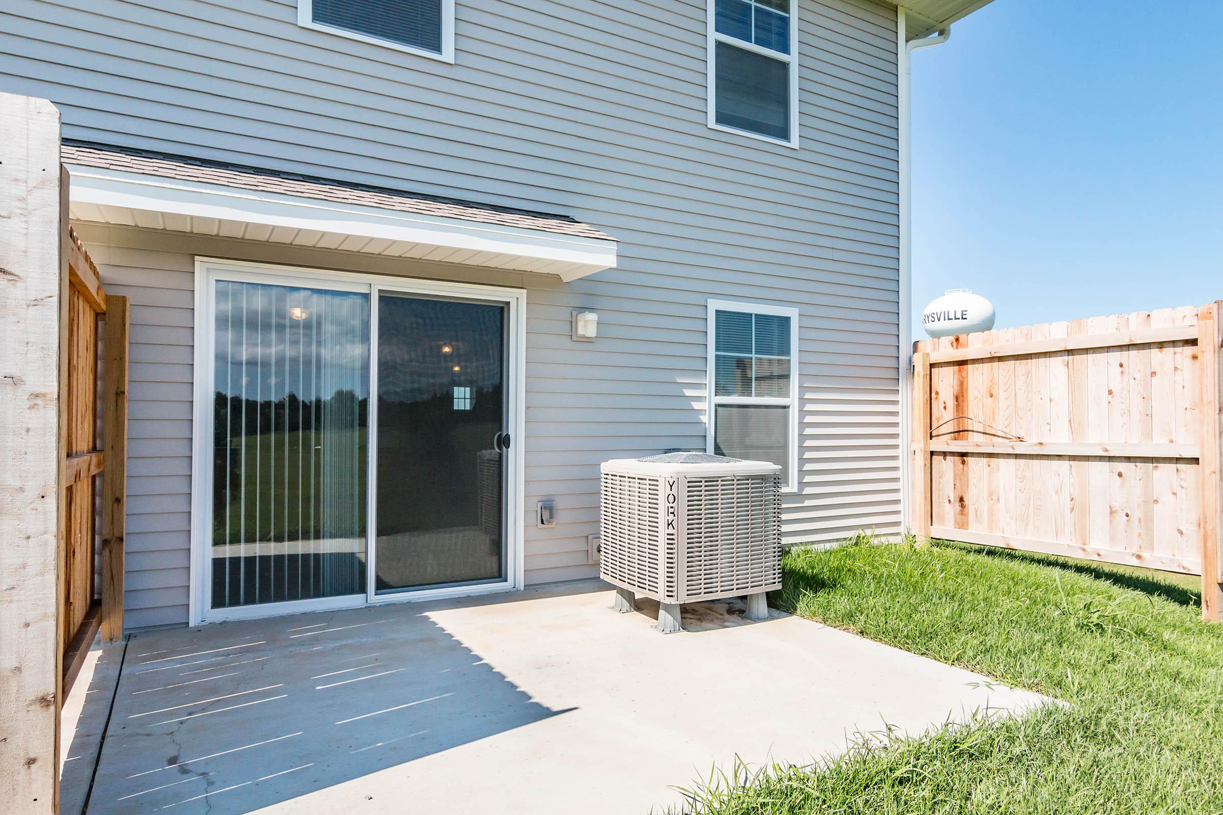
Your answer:
[[[899,529],[893,11],[801,0],[793,150],[706,127],[704,0],[457,0],[454,66],[301,29],[292,2],[7,9],[0,87],[51,98],[66,136],[563,211],[620,246],[618,269],[566,285],[91,231],[91,248],[116,247],[108,283],[132,297],[146,354],[137,380],[133,347],[133,455],[136,440],[161,451],[133,462],[148,479],[133,488],[150,492],[138,518],[133,506],[148,536],[136,533],[147,550],[130,601],[166,605],[133,624],[170,621],[166,609],[186,618],[193,253],[527,288],[530,583],[594,573],[600,461],[703,446],[709,298],[800,309],[801,491],[785,500],[786,539]],[[596,343],[569,338],[575,308],[599,313]],[[555,528],[533,525],[542,497],[556,500]]]

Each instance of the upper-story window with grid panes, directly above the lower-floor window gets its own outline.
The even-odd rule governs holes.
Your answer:
[[[799,145],[797,0],[709,0],[709,127]]]

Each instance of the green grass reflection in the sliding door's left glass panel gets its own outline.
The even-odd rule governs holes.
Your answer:
[[[275,434],[269,429],[231,439],[227,448],[218,446],[214,544],[363,538],[366,435],[366,428]],[[229,491],[224,494],[226,453]],[[324,507],[329,528],[323,525]]]

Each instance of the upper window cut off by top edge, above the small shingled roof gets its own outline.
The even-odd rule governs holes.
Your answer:
[[[297,0],[297,24],[454,62],[454,0]]]

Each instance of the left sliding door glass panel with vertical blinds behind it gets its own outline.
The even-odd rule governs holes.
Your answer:
[[[212,605],[363,594],[369,296],[215,294]]]

